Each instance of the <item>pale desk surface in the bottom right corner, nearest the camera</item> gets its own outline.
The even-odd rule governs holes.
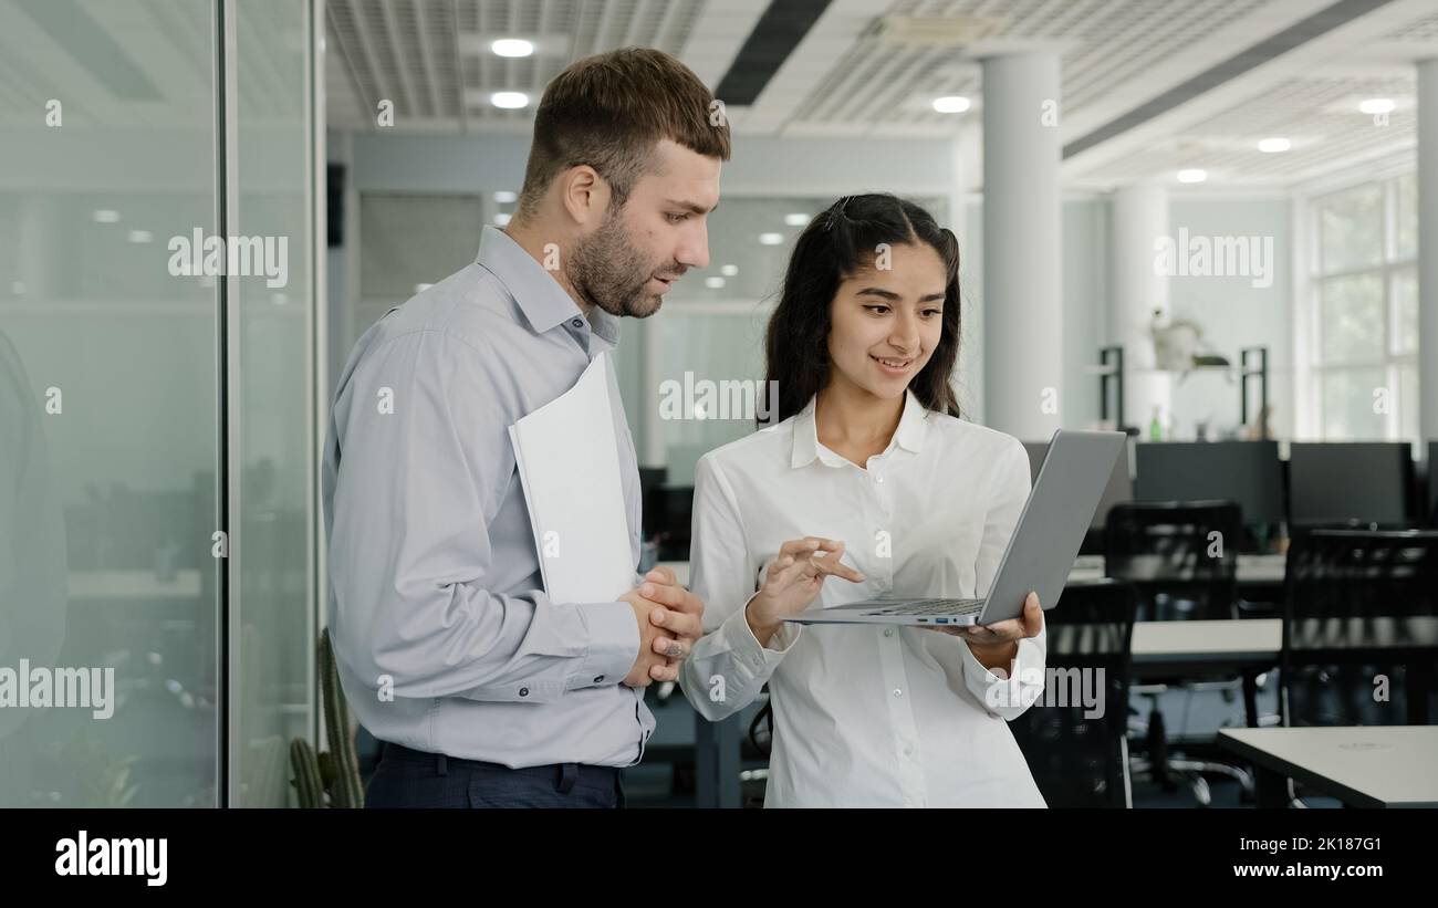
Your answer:
[[[1224,728],[1218,743],[1356,807],[1438,807],[1438,726]]]

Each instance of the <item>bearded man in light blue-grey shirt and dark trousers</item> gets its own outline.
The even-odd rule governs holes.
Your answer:
[[[345,365],[325,457],[329,629],[349,703],[385,743],[370,806],[623,805],[618,767],[654,727],[644,688],[677,678],[703,603],[667,570],[618,602],[552,602],[508,430],[614,348],[620,316],[653,315],[707,264],[729,158],[712,103],[657,50],[569,66],[539,102],[510,224]],[[615,435],[637,563],[623,412]]]

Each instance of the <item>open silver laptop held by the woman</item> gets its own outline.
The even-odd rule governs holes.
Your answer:
[[[988,625],[1022,615],[1028,590],[1038,593],[1038,602],[1045,609],[1054,608],[1125,443],[1123,432],[1054,432],[986,598],[881,596],[831,609],[811,608],[787,621]]]

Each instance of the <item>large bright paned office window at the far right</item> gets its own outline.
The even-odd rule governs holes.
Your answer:
[[[1314,203],[1313,365],[1323,438],[1416,435],[1416,191],[1405,174]]]

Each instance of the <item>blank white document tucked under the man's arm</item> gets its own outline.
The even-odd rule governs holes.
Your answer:
[[[608,353],[509,427],[552,602],[617,602],[634,588]]]

